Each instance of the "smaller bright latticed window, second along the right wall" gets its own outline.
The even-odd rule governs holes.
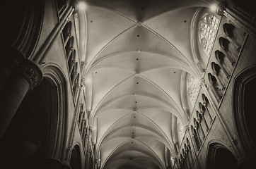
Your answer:
[[[190,98],[190,103],[192,104],[193,107],[195,102],[197,101],[199,89],[199,80],[190,75],[190,73],[187,73],[187,94]]]

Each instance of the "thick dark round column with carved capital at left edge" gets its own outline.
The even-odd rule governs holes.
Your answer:
[[[14,59],[15,71],[1,89],[0,95],[0,139],[11,123],[24,96],[42,81],[42,72],[28,59]]]

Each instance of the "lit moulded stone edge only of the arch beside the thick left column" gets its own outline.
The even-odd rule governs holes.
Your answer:
[[[67,131],[67,85],[64,72],[58,65],[47,64],[42,68],[44,79],[50,82],[52,87],[52,122],[51,143],[54,158],[64,159],[64,143],[68,139]],[[54,146],[53,146],[54,145]]]

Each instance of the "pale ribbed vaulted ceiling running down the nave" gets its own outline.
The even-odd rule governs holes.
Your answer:
[[[194,13],[209,1],[86,1],[86,103],[101,168],[165,168],[175,156],[182,74],[199,77]]]

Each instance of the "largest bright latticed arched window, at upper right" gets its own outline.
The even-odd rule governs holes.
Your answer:
[[[208,57],[211,54],[218,27],[219,19],[209,13],[199,21],[199,43]]]

